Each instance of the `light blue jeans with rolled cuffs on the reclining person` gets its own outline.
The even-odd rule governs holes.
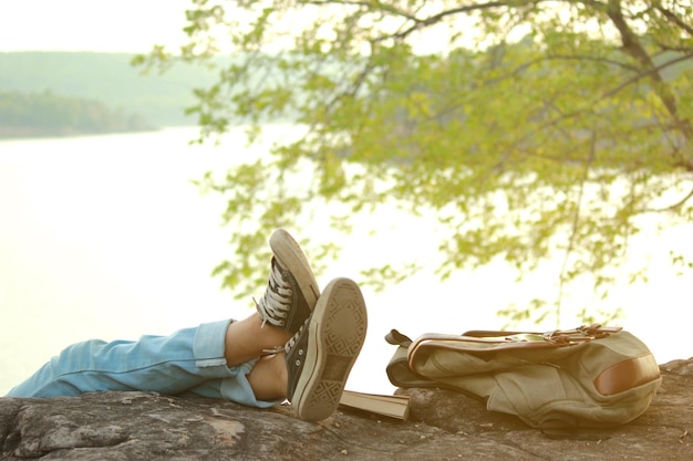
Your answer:
[[[255,398],[247,375],[257,359],[227,366],[224,347],[230,322],[206,323],[169,336],[142,336],[136,342],[91,339],[74,344],[11,389],[7,397],[151,390],[223,398],[260,408],[280,404]]]

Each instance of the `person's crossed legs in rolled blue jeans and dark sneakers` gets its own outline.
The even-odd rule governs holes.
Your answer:
[[[327,418],[339,405],[363,346],[363,296],[348,279],[330,282],[320,296],[298,244],[286,232],[272,239],[272,270],[257,313],[240,322],[214,322],[137,342],[79,343],[8,396],[152,390],[255,407],[288,398],[301,419]],[[285,251],[278,252],[277,245]]]

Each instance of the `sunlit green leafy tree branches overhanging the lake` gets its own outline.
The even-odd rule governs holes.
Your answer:
[[[687,1],[195,0],[186,14],[189,44],[149,65],[236,57],[196,91],[200,140],[241,123],[254,140],[287,115],[307,127],[205,180],[229,198],[236,254],[217,273],[239,295],[263,277],[266,235],[309,203],[344,231],[386,202],[433,213],[443,279],[498,256],[521,277],[563,252],[558,298],[506,312],[540,319],[560,316],[566,284],[606,294],[640,216],[693,218]],[[312,180],[296,181],[307,160]]]

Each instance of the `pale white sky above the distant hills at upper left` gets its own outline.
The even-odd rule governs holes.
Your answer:
[[[190,0],[0,0],[2,51],[146,52],[179,44]]]

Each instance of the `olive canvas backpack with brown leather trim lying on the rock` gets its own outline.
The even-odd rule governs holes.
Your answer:
[[[472,395],[547,434],[632,421],[661,385],[652,353],[620,327],[472,331],[415,340],[393,329],[386,340],[399,346],[386,369],[394,386]]]

